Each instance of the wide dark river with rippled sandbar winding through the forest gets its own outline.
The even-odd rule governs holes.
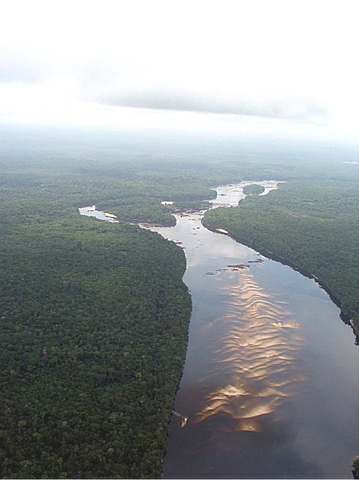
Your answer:
[[[277,187],[256,183],[264,194]],[[213,206],[237,205],[246,184],[216,188]],[[147,226],[181,242],[193,299],[163,477],[352,478],[353,331],[314,280],[209,231],[203,213],[176,215],[175,227]]]

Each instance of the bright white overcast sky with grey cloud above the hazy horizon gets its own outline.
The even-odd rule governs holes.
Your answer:
[[[357,0],[2,0],[1,124],[359,138]]]

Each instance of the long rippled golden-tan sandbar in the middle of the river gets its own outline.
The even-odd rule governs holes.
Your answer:
[[[261,432],[306,380],[300,369],[302,339],[299,322],[283,302],[264,292],[248,271],[238,273],[238,279],[236,286],[222,288],[228,295],[227,312],[214,322],[222,335],[207,380],[218,386],[190,422],[225,415],[229,421],[221,422],[222,430]]]

